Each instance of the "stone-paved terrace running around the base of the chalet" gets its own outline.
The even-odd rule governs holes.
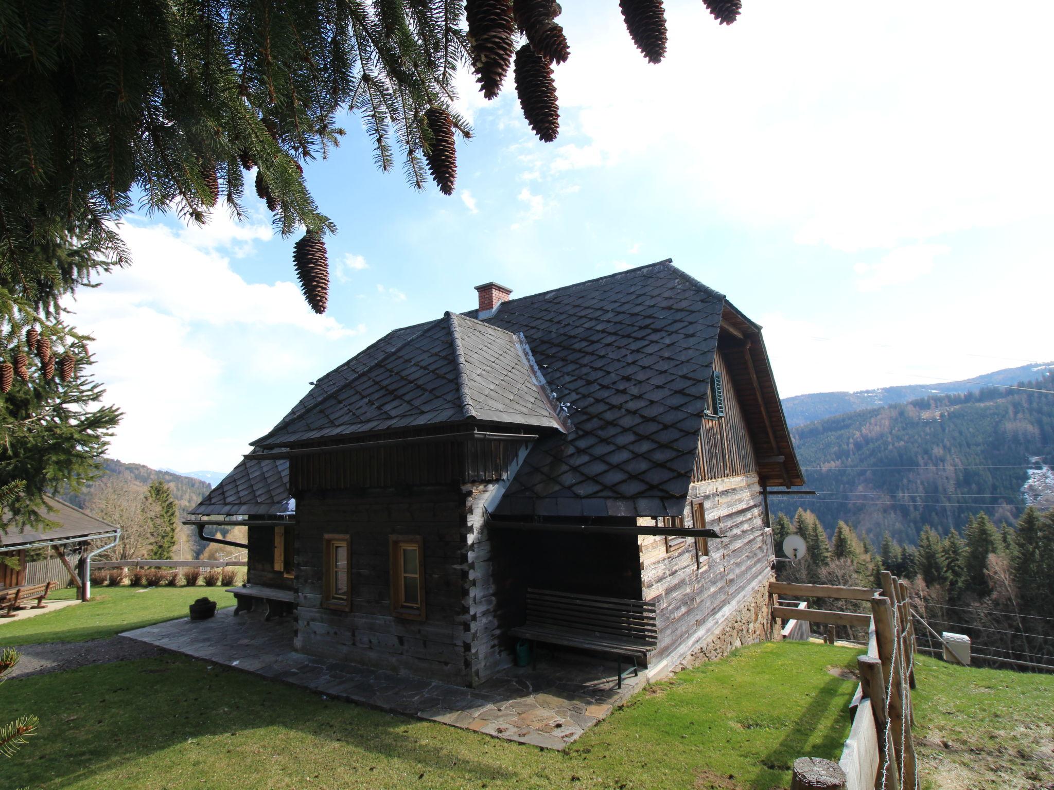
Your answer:
[[[645,684],[646,671],[617,688],[614,659],[548,657],[475,689],[296,653],[293,620],[222,609],[208,620],[170,620],[122,636],[302,686],[326,696],[428,718],[507,740],[563,749]]]

